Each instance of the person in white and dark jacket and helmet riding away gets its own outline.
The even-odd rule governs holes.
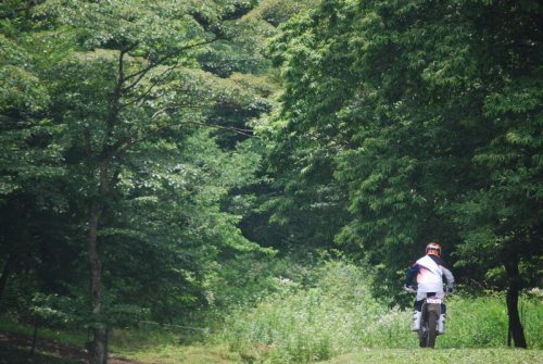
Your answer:
[[[420,319],[422,317],[422,302],[427,298],[428,292],[435,293],[437,298],[443,299],[443,276],[446,280],[446,290],[452,293],[454,290],[454,276],[447,265],[441,258],[441,246],[435,242],[430,242],[426,246],[426,255],[420,258],[407,271],[404,288],[413,291],[412,281],[417,277],[417,297],[415,299],[415,310],[413,312],[413,330],[420,329]],[[441,315],[438,321],[438,332],[445,334],[446,307],[441,304]]]

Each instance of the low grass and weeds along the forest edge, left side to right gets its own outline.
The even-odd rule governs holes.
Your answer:
[[[187,331],[180,326],[182,330],[168,329],[175,325],[114,329],[110,348],[141,363],[164,364],[310,363],[362,353],[344,356],[344,363],[351,363],[366,354],[379,356],[376,351],[383,349],[401,357],[404,352],[418,352],[413,351],[418,342],[411,331],[411,309],[390,309],[372,298],[371,276],[365,268],[334,261],[307,277],[311,279],[303,284],[275,278],[267,294],[252,306],[244,304],[231,311],[215,330]],[[519,303],[529,347],[539,350],[543,349],[541,299],[541,290],[533,290],[525,293]],[[503,293],[449,297],[447,316],[446,334],[438,337],[438,349],[506,348],[507,310]],[[30,326],[7,317],[0,317],[0,330],[33,334]],[[46,328],[38,331],[40,338],[79,348],[88,339],[86,334]]]

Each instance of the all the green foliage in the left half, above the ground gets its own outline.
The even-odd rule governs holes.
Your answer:
[[[0,213],[13,224],[0,229],[0,303],[16,312],[35,292],[59,294],[85,327],[193,319],[211,304],[215,262],[260,251],[236,208],[260,180],[249,123],[272,108],[266,81],[242,74],[263,62],[235,24],[255,2],[10,3]],[[220,76],[238,73],[210,73],[206,57],[230,60]],[[93,315],[92,216],[104,287]],[[42,303],[40,315],[59,309]]]

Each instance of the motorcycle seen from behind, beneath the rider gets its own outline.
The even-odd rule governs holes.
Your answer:
[[[406,291],[417,293],[416,289],[405,288]],[[427,293],[422,301],[420,329],[418,330],[418,340],[420,348],[433,348],[435,337],[438,336],[438,321],[441,315],[441,305],[444,299],[435,297],[435,292]]]

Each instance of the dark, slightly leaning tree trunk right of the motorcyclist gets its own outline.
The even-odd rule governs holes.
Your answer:
[[[509,280],[509,287],[507,288],[507,314],[509,317],[509,328],[508,336],[513,337],[516,348],[527,348],[525,329],[522,328],[522,323],[520,322],[520,315],[518,312],[518,297],[520,289],[522,288],[520,280],[520,273],[518,271],[518,261],[512,260],[505,264],[505,272]],[[507,340],[510,344],[510,340]]]

